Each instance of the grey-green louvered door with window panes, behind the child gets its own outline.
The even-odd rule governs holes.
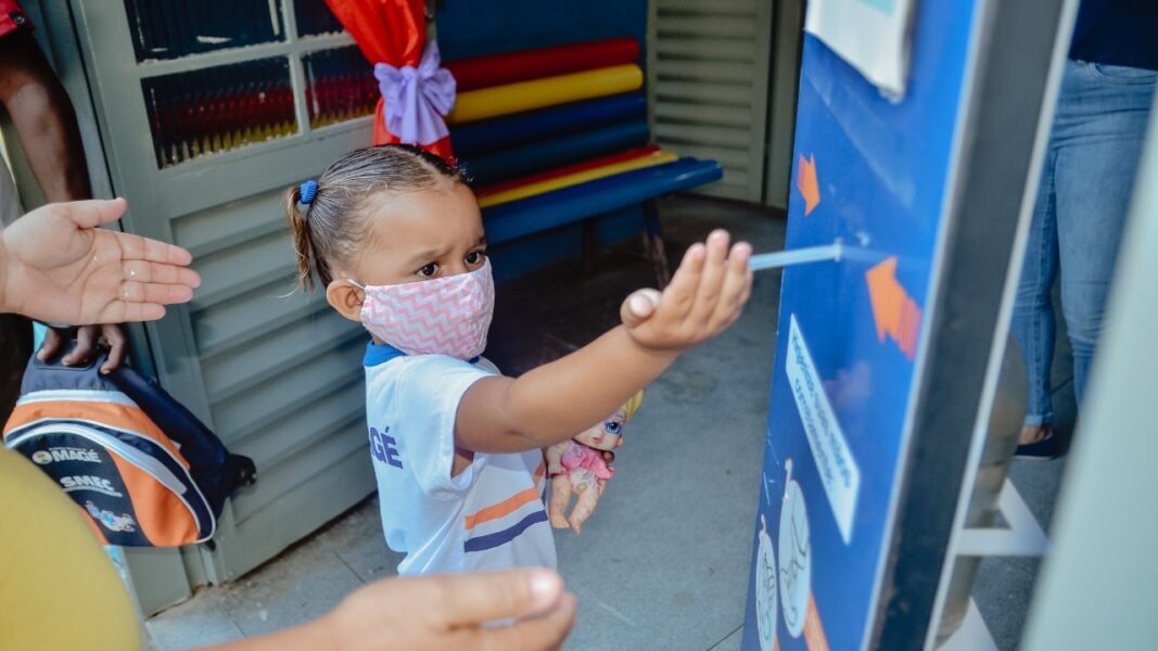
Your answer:
[[[322,294],[292,293],[283,198],[369,142],[376,82],[322,0],[219,5],[74,2],[125,229],[190,249],[203,278],[146,327],[159,379],[258,469],[204,569],[186,551],[190,583],[257,566],[374,489],[367,335]],[[146,614],[166,605],[141,599]]]

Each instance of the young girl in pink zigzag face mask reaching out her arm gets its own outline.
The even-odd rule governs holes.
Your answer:
[[[735,321],[750,247],[717,231],[623,324],[519,378],[479,356],[494,306],[483,221],[442,159],[405,145],[351,152],[290,191],[300,284],[373,336],[366,419],[400,575],[554,568],[542,448],[614,412],[683,351]]]

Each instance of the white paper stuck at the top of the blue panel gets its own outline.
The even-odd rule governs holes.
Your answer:
[[[816,35],[873,86],[904,95],[913,0],[811,0],[805,31]]]

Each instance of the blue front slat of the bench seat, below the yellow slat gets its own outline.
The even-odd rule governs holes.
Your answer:
[[[483,210],[486,240],[494,244],[580,221],[668,192],[719,181],[716,161],[686,158]]]

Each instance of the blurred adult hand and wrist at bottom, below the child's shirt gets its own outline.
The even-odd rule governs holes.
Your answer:
[[[318,620],[215,649],[545,651],[560,648],[574,615],[574,595],[543,569],[383,579]]]

